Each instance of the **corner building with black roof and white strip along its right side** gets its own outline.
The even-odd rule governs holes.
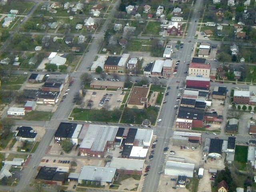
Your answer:
[[[82,129],[82,124],[61,122],[54,134],[54,142],[70,140],[74,145],[78,144],[78,135]]]

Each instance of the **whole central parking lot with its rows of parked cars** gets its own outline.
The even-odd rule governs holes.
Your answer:
[[[107,90],[87,90],[84,97],[84,108],[101,109],[106,108],[113,110],[120,108],[124,99],[122,91],[107,91]]]

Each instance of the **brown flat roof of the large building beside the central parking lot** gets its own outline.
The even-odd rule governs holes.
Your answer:
[[[145,86],[134,86],[128,105],[144,105],[144,102],[142,102],[142,98],[148,98],[149,90],[150,88]]]

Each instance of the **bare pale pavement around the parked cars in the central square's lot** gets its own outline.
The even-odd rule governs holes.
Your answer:
[[[96,92],[95,96],[93,97],[92,93]],[[121,95],[122,91],[117,90],[117,91],[105,91],[105,90],[87,90],[86,96],[84,97],[84,108],[90,108],[88,107],[88,102],[89,100],[92,100],[92,108],[94,109],[101,109],[102,107],[105,107],[107,109],[114,109],[116,107],[120,108],[122,102],[117,102],[117,100],[123,100],[124,95]],[[102,107],[98,106],[100,103],[100,100],[103,98],[105,94],[108,94],[108,103],[103,104]],[[112,96],[110,96],[112,94]]]

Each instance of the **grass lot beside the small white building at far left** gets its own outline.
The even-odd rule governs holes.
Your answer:
[[[30,111],[26,112],[23,117],[24,120],[34,120],[34,121],[49,121],[52,118],[52,112],[46,111]]]

